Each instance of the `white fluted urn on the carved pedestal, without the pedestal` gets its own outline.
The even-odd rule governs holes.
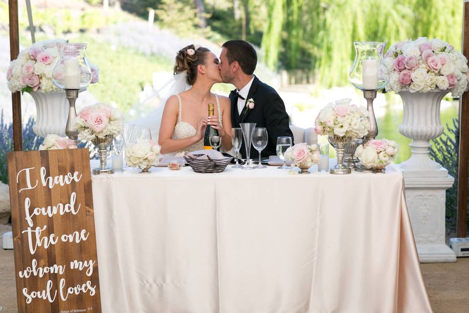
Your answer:
[[[431,92],[400,91],[404,104],[404,116],[399,132],[412,139],[412,156],[401,163],[407,170],[436,170],[441,165],[433,161],[429,154],[430,139],[443,134],[440,119],[440,104],[448,90]]]

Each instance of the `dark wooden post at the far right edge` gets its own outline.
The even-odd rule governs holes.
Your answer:
[[[464,1],[463,54],[469,59],[469,2]],[[468,214],[468,170],[469,170],[469,94],[465,92],[459,100],[459,171],[458,212],[456,236],[466,237]]]

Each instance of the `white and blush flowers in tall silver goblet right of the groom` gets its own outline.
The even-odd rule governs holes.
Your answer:
[[[351,99],[327,104],[316,117],[314,132],[319,135],[352,137],[352,140],[368,134],[369,112],[363,106],[350,104]]]

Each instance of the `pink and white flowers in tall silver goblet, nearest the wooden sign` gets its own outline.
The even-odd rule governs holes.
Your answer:
[[[92,141],[96,137],[117,136],[124,129],[124,115],[105,103],[83,108],[73,120],[72,129],[78,131],[80,140]]]

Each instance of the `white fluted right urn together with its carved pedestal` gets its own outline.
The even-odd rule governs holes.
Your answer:
[[[426,93],[400,91],[404,116],[399,132],[412,139],[412,156],[400,164],[405,200],[421,262],[455,262],[445,243],[446,190],[454,178],[429,156],[430,139],[443,134],[440,104],[448,90]]]

